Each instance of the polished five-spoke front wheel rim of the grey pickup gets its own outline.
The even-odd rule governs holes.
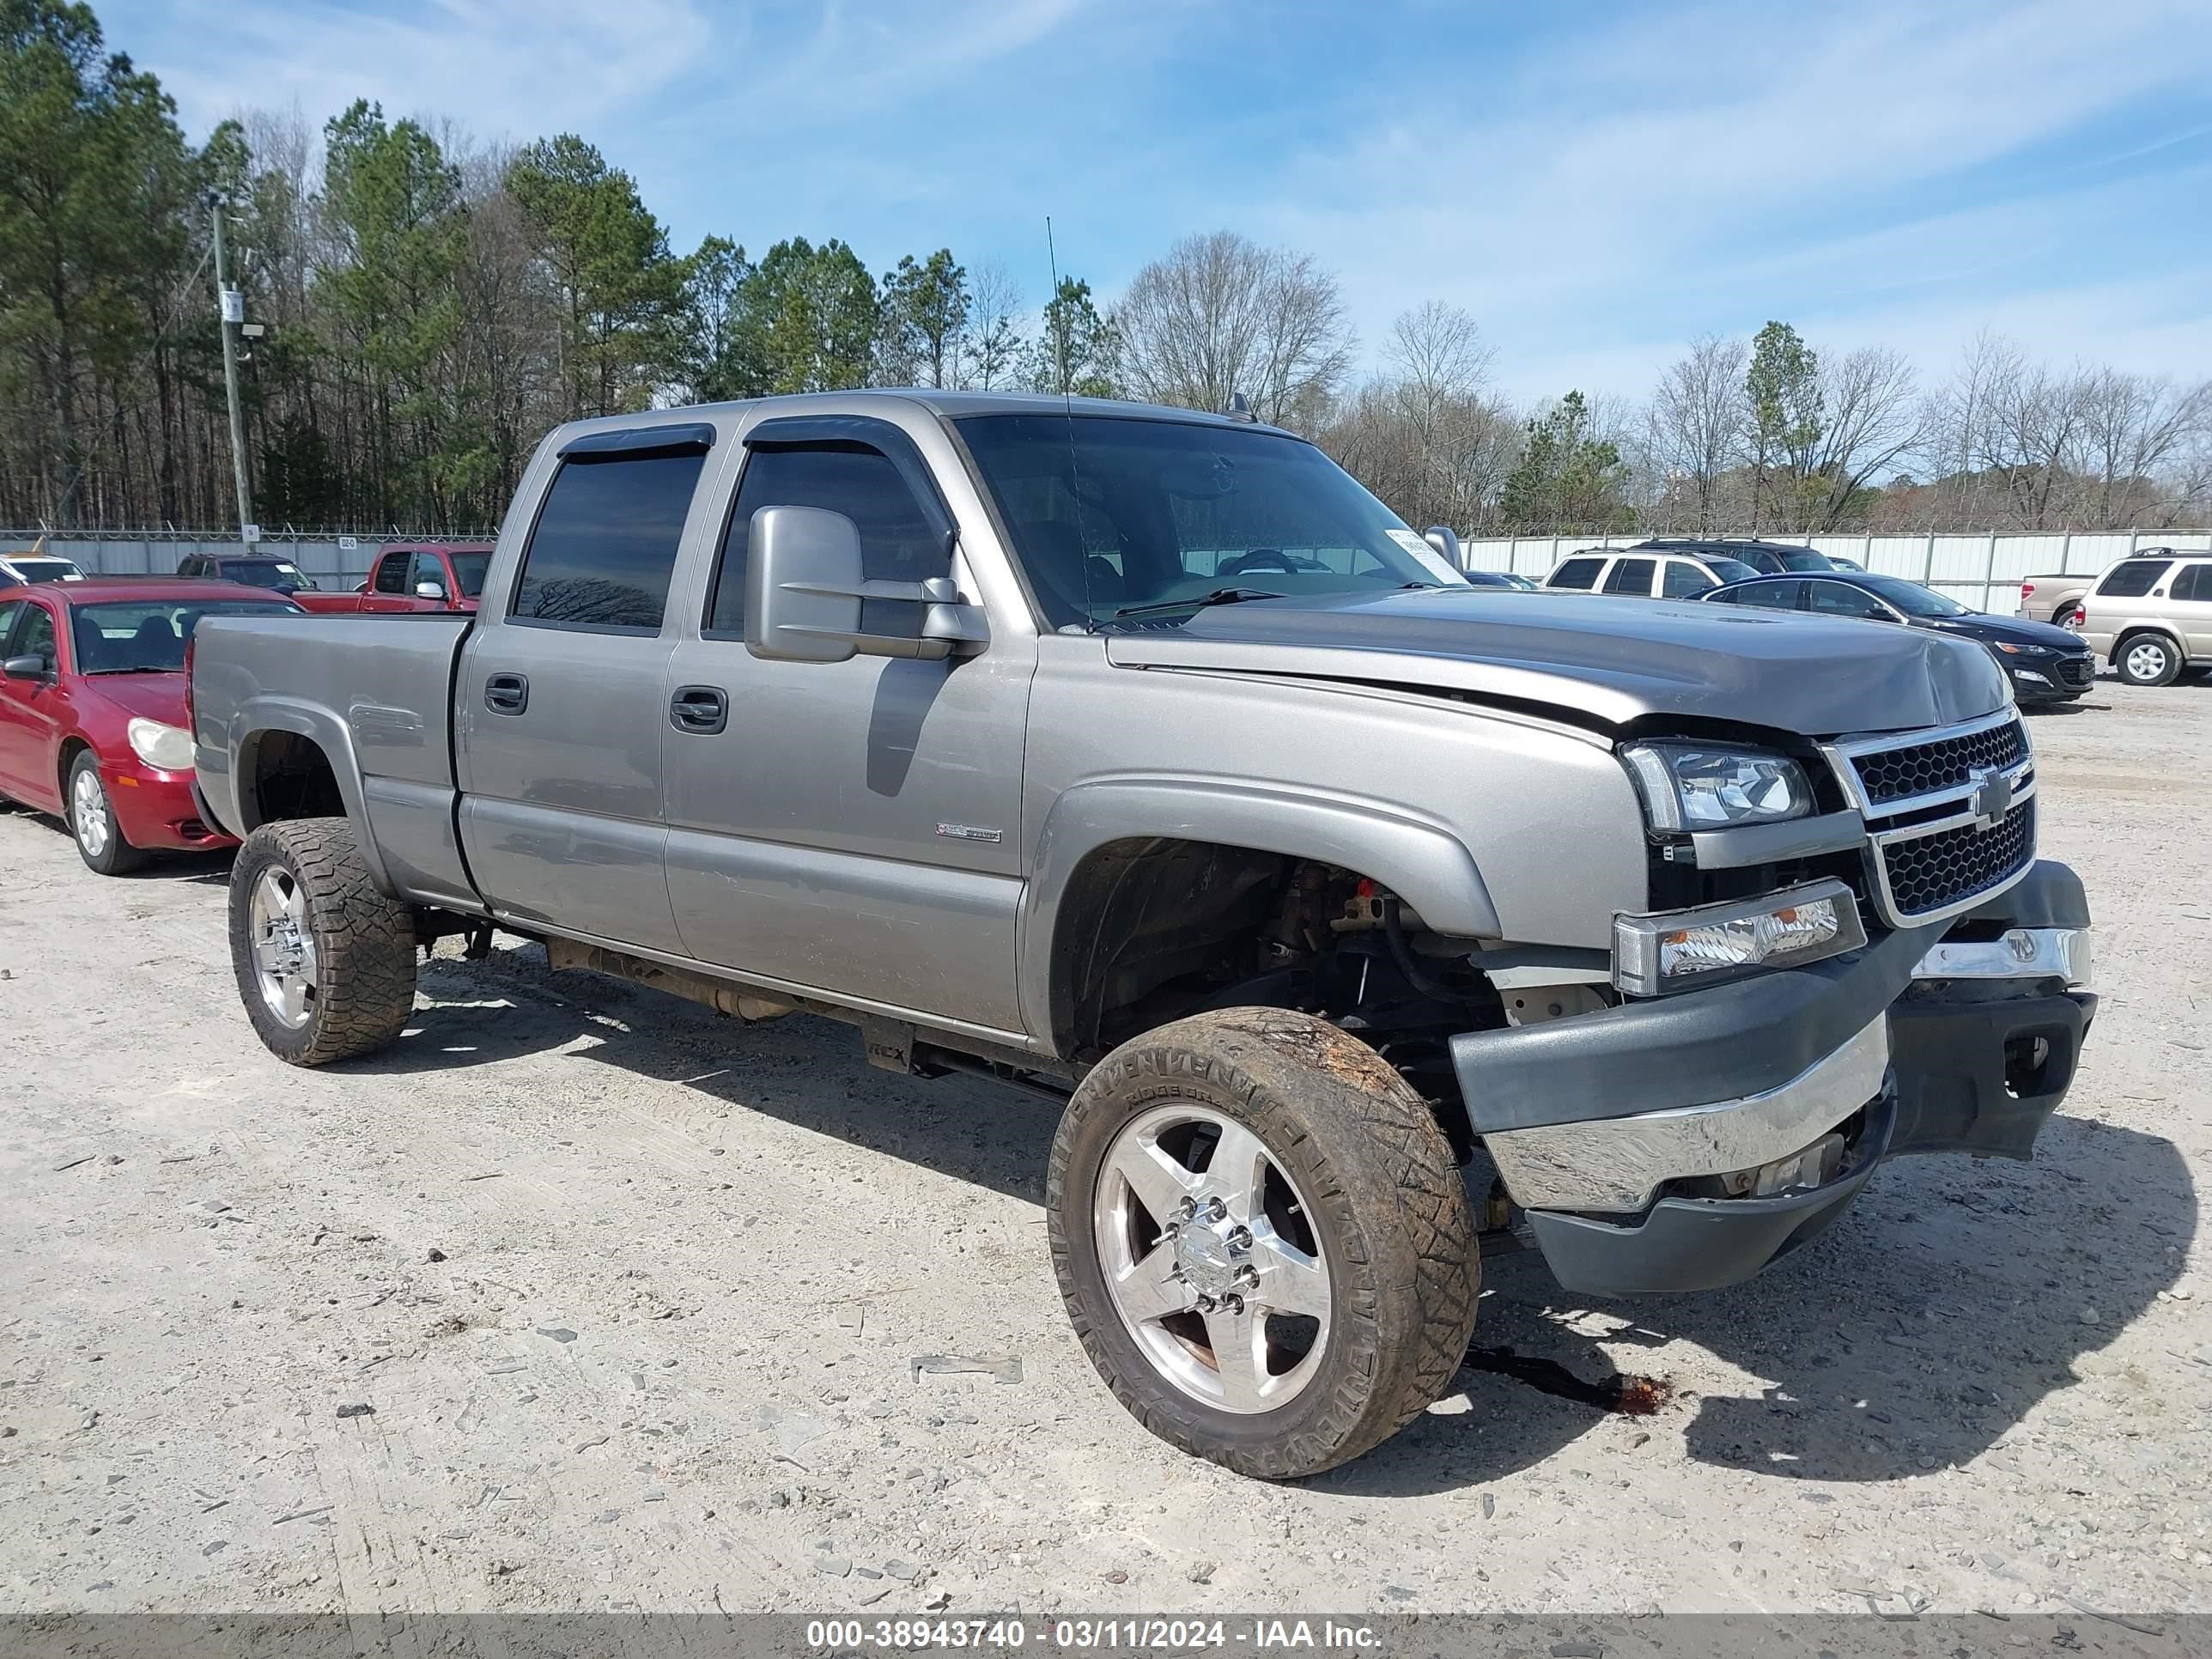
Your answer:
[[[1219,1411],[1274,1411],[1321,1369],[1329,1263],[1305,1197],[1243,1124],[1192,1102],[1115,1137],[1091,1214],[1115,1312]]]

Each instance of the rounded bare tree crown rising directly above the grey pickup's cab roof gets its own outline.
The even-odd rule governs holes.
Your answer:
[[[1336,279],[1310,254],[1234,230],[1186,237],[1137,272],[1115,312],[1130,389],[1152,403],[1312,429],[1352,363]]]

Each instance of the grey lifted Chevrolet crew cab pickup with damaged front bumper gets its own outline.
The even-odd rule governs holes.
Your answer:
[[[192,708],[276,1055],[498,929],[1042,1091],[1084,1349],[1254,1475],[1438,1398],[1486,1245],[1708,1290],[1887,1157],[2026,1157],[2095,1013],[1986,650],[1471,588],[1250,420],[577,422],[476,617],[210,617]]]

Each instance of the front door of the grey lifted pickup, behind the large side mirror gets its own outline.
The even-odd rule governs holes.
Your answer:
[[[745,648],[745,538],[763,507],[854,520],[867,580],[958,575],[975,597],[940,489],[958,462],[940,429],[916,427],[770,418],[726,462],[741,478],[668,664],[668,891],[699,960],[1018,1033],[1033,635],[993,619],[980,653],[936,661],[772,661]],[[964,476],[956,491],[973,502]],[[860,626],[914,637],[920,613],[869,599]]]

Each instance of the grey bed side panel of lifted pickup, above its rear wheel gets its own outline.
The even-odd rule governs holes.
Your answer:
[[[392,891],[480,909],[453,832],[453,666],[471,626],[438,611],[206,617],[192,641],[192,741],[208,810],[234,834],[250,830],[239,774],[281,763],[270,734],[299,734],[330,757]],[[252,732],[263,737],[243,745]]]

